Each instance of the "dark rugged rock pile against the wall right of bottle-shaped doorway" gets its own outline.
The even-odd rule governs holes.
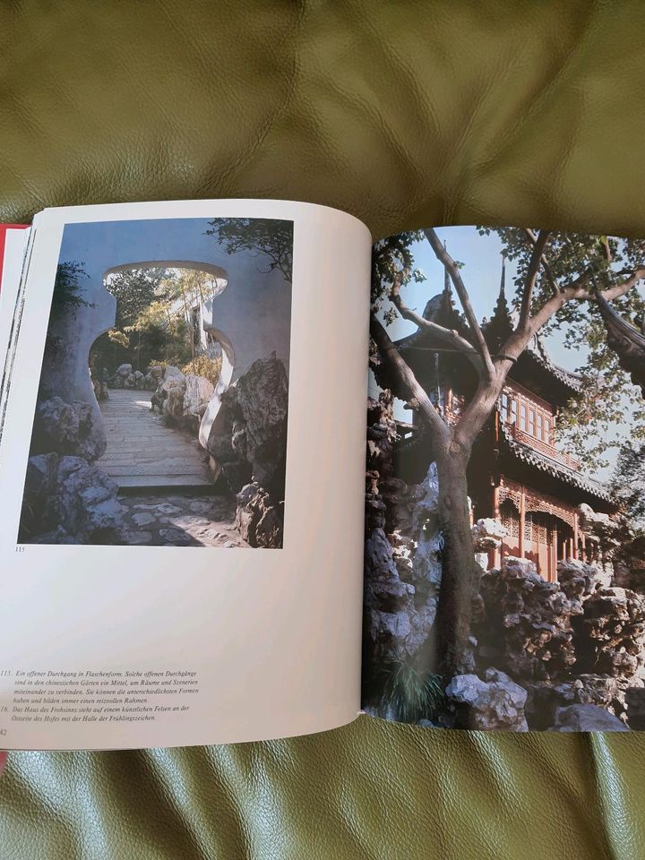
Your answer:
[[[176,385],[168,383],[168,409],[178,400],[178,394],[173,393]],[[202,382],[186,382],[185,413],[186,397],[193,392],[190,398],[199,414],[203,391]],[[251,546],[282,546],[287,416],[287,371],[280,358],[271,353],[254,361],[222,393],[207,441],[211,464],[236,494],[237,528]]]

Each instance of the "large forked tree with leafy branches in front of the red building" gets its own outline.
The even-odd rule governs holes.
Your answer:
[[[490,231],[482,228],[481,232]],[[434,230],[424,230],[423,235],[459,297],[468,325],[467,337],[424,319],[405,305],[402,290],[410,278],[417,277],[409,254],[412,239],[404,239],[402,243],[400,236],[386,240],[377,245],[374,254],[374,305],[370,319],[374,360],[387,367],[395,393],[409,400],[433,441],[444,542],[437,648],[439,669],[446,680],[463,665],[472,598],[480,573],[470,532],[466,470],[473,443],[495,408],[507,374],[538,332],[567,324],[572,338],[576,332],[580,336],[581,331],[586,331],[581,314],[583,305],[593,306],[598,294],[608,302],[627,297],[637,281],[645,277],[645,266],[637,262],[645,258],[639,246],[623,247],[606,236],[580,237],[546,230],[509,228],[497,232],[507,254],[517,259],[519,274],[514,298],[517,322],[495,355],[491,355],[477,321],[460,264],[452,259]],[[385,299],[389,299],[397,314],[431,331],[436,340],[463,353],[474,366],[477,389],[456,424],[449,426],[443,420],[392,343],[386,325],[377,315]]]

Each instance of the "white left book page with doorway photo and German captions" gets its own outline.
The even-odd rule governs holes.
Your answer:
[[[0,402],[0,746],[360,707],[371,237],[297,202],[47,210]]]

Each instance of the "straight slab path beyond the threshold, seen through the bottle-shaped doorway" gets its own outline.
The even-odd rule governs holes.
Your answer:
[[[200,444],[152,414],[148,391],[110,389],[99,408],[107,452],[97,466],[119,486],[211,485]]]

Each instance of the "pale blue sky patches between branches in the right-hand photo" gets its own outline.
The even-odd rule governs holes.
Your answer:
[[[475,227],[446,227],[436,228],[436,234],[445,241],[448,253],[454,260],[464,263],[461,269],[461,277],[469,291],[470,301],[473,305],[477,319],[481,322],[484,317],[490,319],[495,309],[495,302],[499,294],[500,278],[502,273],[502,242],[496,234],[480,236]],[[415,265],[421,269],[426,280],[421,283],[411,282],[401,288],[403,301],[409,308],[418,314],[423,314],[426,302],[443,289],[443,265],[434,255],[430,243],[422,240],[411,246]],[[514,262],[506,261],[506,298],[512,299],[515,291],[514,278],[517,268]],[[461,310],[459,298],[454,294],[455,305]],[[383,310],[389,305],[383,303]],[[417,326],[400,317],[388,327],[392,340],[399,340],[406,335],[417,331]],[[563,345],[563,332],[555,331],[544,343],[551,360],[567,370],[575,371],[581,367],[587,358],[588,350],[581,346],[580,349],[566,348]],[[374,377],[370,376],[370,396],[374,397],[378,389],[374,383]],[[403,420],[410,420],[409,410],[402,409],[402,403],[395,405],[395,414]],[[617,437],[620,427],[615,426],[610,430],[610,436]],[[617,452],[610,450],[606,453],[609,466],[606,469],[598,469],[595,477],[606,480],[611,476],[615,466]]]

